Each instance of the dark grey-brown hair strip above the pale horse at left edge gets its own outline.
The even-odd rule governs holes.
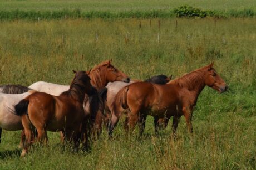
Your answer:
[[[27,92],[28,90],[32,90],[22,85],[12,85],[12,84],[2,85],[0,86],[0,88],[2,89],[1,92],[6,94],[22,94],[24,92]]]

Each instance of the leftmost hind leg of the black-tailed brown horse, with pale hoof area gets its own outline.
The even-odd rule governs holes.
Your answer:
[[[24,142],[23,150],[21,152],[21,157],[24,157],[27,154],[31,143],[33,142],[33,132],[31,129],[31,122],[29,121],[28,115],[23,115],[21,117],[21,121],[26,136],[26,142]]]

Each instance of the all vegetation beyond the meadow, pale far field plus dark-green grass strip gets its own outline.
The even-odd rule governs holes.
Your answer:
[[[185,1],[35,1],[35,0],[0,0],[0,19],[64,19],[64,18],[168,18],[182,17],[175,9],[191,6],[200,11],[185,17],[254,17],[256,2],[254,0],[185,0]],[[182,10],[181,10],[182,11]],[[205,14],[202,14],[204,13]]]

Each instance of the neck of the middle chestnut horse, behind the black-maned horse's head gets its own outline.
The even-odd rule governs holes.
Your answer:
[[[106,80],[106,75],[99,68],[92,70],[89,74],[91,78],[91,84],[96,87],[97,90],[102,89],[109,83]]]

